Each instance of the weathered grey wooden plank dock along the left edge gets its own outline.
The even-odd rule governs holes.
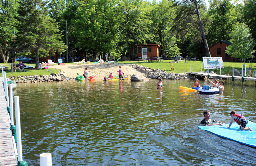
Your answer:
[[[0,77],[0,166],[16,166],[16,156],[4,97],[3,77]]]

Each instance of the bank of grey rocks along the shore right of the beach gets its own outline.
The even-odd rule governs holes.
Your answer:
[[[150,69],[148,67],[144,67],[138,64],[131,64],[132,68],[139,70],[142,72],[145,77],[151,79],[198,79],[196,76],[192,76],[186,73],[173,73],[166,72],[160,69]]]

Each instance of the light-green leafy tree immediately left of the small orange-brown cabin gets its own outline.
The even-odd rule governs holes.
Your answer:
[[[143,0],[123,0],[117,6],[123,19],[120,20],[118,45],[127,50],[128,57],[134,59],[135,44],[147,44],[152,41],[149,25],[152,21],[147,17],[150,11],[148,3]]]

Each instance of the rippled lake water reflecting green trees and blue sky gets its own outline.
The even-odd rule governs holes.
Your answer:
[[[224,94],[180,93],[193,80],[18,84],[23,159],[39,166],[254,165],[256,148],[199,130],[205,110],[229,123],[236,110],[256,122],[254,81],[226,81]],[[199,81],[207,85],[208,81]]]

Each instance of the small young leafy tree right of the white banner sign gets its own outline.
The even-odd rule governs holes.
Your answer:
[[[250,28],[244,23],[238,24],[231,32],[231,45],[226,49],[226,52],[234,58],[240,58],[243,61],[246,58],[252,58],[255,50],[255,42],[250,33]]]

